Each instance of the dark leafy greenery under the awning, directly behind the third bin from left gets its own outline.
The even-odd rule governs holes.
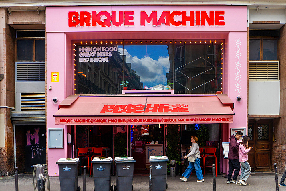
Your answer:
[[[114,157],[127,157],[127,133],[118,132],[113,137]]]

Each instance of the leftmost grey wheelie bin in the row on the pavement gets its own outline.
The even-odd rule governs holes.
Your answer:
[[[59,183],[61,191],[80,191],[78,187],[78,163],[80,160],[60,158],[56,163],[59,165]]]

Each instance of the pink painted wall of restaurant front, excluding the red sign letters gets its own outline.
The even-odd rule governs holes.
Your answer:
[[[134,23],[132,27],[69,27],[69,11],[134,11]],[[225,11],[225,26],[152,26],[140,25],[140,11],[151,13],[158,11]],[[178,18],[179,20],[179,18]],[[49,176],[58,176],[59,158],[67,157],[67,129],[65,125],[55,125],[53,114],[58,110],[58,103],[54,104],[53,97],[63,101],[73,93],[73,64],[72,64],[72,40],[88,39],[224,39],[224,89],[230,99],[235,103],[234,123],[224,126],[225,135],[223,141],[228,142],[231,127],[246,127],[247,111],[247,7],[246,6],[90,6],[90,7],[47,7],[46,8],[46,32],[47,32],[47,86],[52,85],[52,90],[47,90],[47,128],[64,128],[64,149],[48,149]],[[108,35],[107,35],[108,34]],[[240,38],[240,42],[237,39]],[[237,47],[241,44],[240,49]],[[237,49],[240,52],[237,52]],[[237,55],[240,55],[239,58]],[[241,63],[236,61],[240,59]],[[236,72],[240,71],[241,84],[237,92]],[[51,73],[59,72],[59,82],[51,82]],[[242,97],[241,102],[236,97]],[[49,137],[48,137],[49,138]],[[69,148],[70,149],[70,148]],[[227,160],[223,160],[223,172],[227,172]]]

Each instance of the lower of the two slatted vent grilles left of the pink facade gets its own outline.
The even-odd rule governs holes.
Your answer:
[[[21,93],[21,111],[45,110],[45,93]]]

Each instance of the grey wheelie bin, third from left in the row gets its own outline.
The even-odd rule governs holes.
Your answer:
[[[114,191],[132,191],[133,190],[133,157],[115,157],[115,182]]]

